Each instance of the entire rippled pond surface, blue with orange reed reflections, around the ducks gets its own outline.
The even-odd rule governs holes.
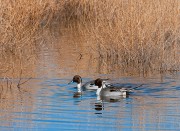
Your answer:
[[[178,75],[120,75],[118,70],[113,72],[104,68],[90,55],[86,57],[89,59],[77,61],[80,55],[70,53],[74,48],[64,49],[66,47],[53,53],[48,49],[41,52],[36,77],[20,90],[16,87],[18,78],[13,79],[13,88],[0,88],[1,130],[180,129]],[[89,90],[74,98],[76,85],[67,83],[75,74],[82,75],[84,82],[103,77],[111,78],[112,82],[144,85],[126,98],[105,97],[99,101],[95,91]],[[3,85],[6,84],[4,81]]]

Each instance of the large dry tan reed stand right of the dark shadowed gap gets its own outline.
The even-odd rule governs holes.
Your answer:
[[[86,28],[106,62],[140,72],[179,70],[177,0],[86,2],[91,6]]]

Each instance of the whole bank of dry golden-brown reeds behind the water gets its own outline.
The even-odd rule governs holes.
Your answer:
[[[178,0],[0,0],[0,6],[3,59],[28,58],[41,49],[47,30],[53,36],[65,28],[88,36],[104,63],[179,70]]]

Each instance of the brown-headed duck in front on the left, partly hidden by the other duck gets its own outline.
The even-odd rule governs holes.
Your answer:
[[[106,83],[106,85],[110,85],[110,83],[106,82],[106,80],[108,80],[108,79],[102,79],[102,81],[104,83]],[[68,84],[74,83],[74,82],[77,83],[78,92],[81,92],[81,89],[89,89],[89,90],[97,90],[98,89],[98,86],[95,85],[95,83],[94,83],[95,80],[86,82],[85,84],[82,85],[82,78],[79,75],[75,75],[73,77],[72,81],[69,82]]]

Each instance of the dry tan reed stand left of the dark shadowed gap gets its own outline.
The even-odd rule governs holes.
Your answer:
[[[26,70],[34,63],[35,53],[42,46],[43,28],[49,25],[53,14],[54,3],[0,0],[0,6],[0,74],[11,70],[11,74],[17,77],[22,68]]]

